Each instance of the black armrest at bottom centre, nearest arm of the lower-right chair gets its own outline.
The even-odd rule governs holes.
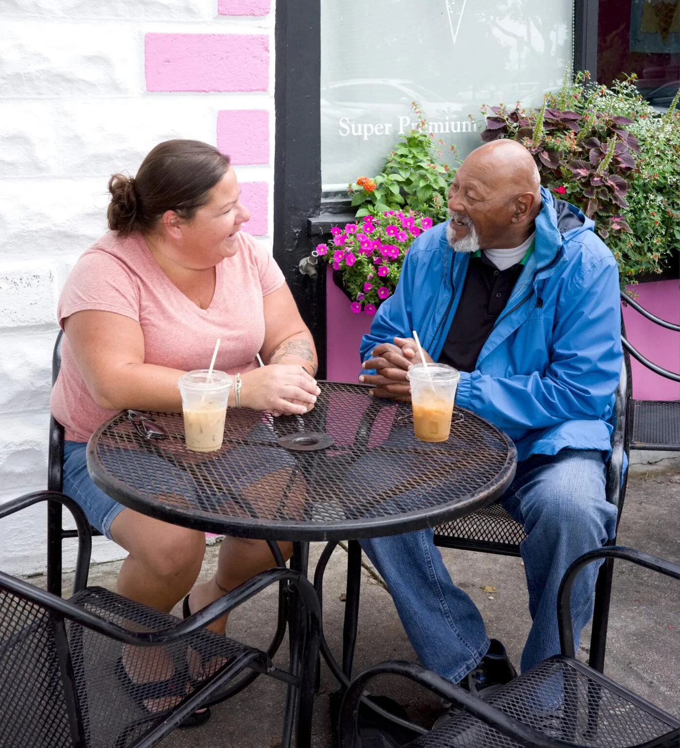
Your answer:
[[[512,738],[524,748],[575,748],[573,744],[564,741],[554,741],[533,728],[510,717],[504,711],[492,706],[479,696],[473,696],[450,681],[445,680],[432,670],[404,660],[390,660],[364,670],[358,675],[346,691],[343,705],[340,708],[340,748],[361,748],[361,741],[357,731],[357,717],[361,695],[370,680],[376,675],[401,675],[408,680],[432,691],[465,709],[470,714],[494,727],[498,732]]]

